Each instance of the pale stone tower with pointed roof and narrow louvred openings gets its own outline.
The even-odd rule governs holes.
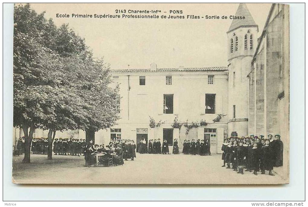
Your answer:
[[[247,75],[257,47],[258,25],[253,20],[245,3],[241,3],[233,19],[228,36],[229,102],[228,136],[248,135],[248,91]],[[236,133],[235,133],[236,132]]]

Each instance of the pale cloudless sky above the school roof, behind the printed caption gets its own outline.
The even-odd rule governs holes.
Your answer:
[[[227,34],[232,19],[99,19],[57,18],[56,14],[115,14],[116,9],[182,10],[181,15],[234,15],[238,3],[215,4],[64,4],[32,3],[37,13],[45,11],[57,26],[68,23],[85,38],[95,57],[113,69],[220,67],[227,66]],[[271,4],[249,4],[247,7],[263,30]],[[128,13],[126,13],[128,14]]]

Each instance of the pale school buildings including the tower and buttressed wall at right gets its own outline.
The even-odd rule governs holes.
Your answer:
[[[258,25],[241,3],[227,31],[228,66],[111,70],[113,86],[120,85],[115,109],[121,119],[111,129],[95,133],[95,143],[111,139],[209,139],[212,154],[221,153],[230,136],[281,134],[289,140],[289,7],[273,4],[258,39]],[[224,115],[219,121],[213,119]],[[160,126],[150,127],[150,117]],[[172,127],[175,118],[206,126],[187,131]],[[281,121],[282,120],[282,121]],[[14,140],[23,136],[14,129]],[[47,137],[37,129],[34,137]],[[85,139],[82,130],[57,132],[56,138]],[[284,141],[284,140],[283,140]]]

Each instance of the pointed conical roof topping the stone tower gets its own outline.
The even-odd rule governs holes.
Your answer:
[[[245,3],[240,3],[235,16],[244,16],[245,19],[233,19],[228,32],[233,31],[239,27],[258,27]]]

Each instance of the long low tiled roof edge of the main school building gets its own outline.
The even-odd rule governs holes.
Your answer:
[[[226,71],[226,70],[228,70],[228,67],[157,68],[155,71],[151,71],[150,68],[141,68],[141,69],[111,69],[110,72],[164,72],[164,71],[196,72],[196,71]]]

